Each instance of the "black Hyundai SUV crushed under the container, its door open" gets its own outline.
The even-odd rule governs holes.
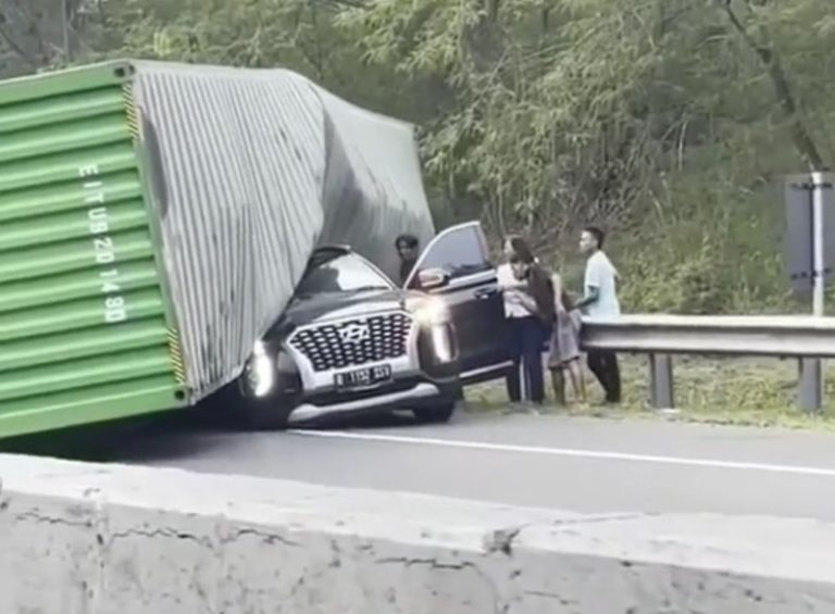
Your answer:
[[[496,271],[472,222],[438,234],[404,288],[350,248],[319,249],[256,343],[235,411],[256,428],[390,409],[446,422],[462,386],[509,366]]]

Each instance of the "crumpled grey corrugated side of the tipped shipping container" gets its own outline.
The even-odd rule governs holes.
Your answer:
[[[134,66],[194,400],[237,376],[317,246],[396,278],[395,237],[433,236],[411,125],[289,71]]]

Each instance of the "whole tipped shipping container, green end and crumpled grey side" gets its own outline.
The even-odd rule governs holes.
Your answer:
[[[315,248],[396,275],[414,127],[301,75],[136,60],[0,83],[0,438],[233,383]]]

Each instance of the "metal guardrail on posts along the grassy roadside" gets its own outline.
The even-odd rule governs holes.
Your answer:
[[[763,355],[799,360],[798,403],[823,405],[822,358],[835,358],[835,317],[623,315],[583,318],[584,350],[650,356],[650,401],[674,406],[674,354]]]

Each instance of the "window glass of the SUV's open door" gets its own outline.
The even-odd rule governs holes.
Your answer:
[[[464,224],[438,235],[421,254],[407,287],[414,288],[418,273],[428,268],[443,268],[450,279],[493,270],[481,225]]]

